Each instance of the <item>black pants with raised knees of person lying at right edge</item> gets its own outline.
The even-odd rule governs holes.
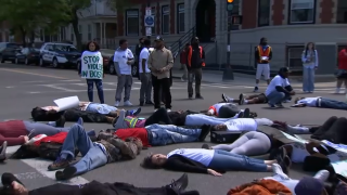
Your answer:
[[[333,143],[347,144],[347,118],[330,117],[322,126],[310,129],[312,139],[327,140]]]

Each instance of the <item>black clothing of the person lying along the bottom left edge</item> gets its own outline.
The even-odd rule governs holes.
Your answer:
[[[100,183],[92,181],[81,187],[67,184],[53,184],[29,192],[29,195],[179,195],[167,186],[163,187],[137,187],[128,183]],[[191,191],[180,195],[198,195],[198,192]]]

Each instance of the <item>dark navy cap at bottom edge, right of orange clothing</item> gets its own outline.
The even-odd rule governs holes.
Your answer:
[[[296,195],[321,195],[324,190],[324,183],[312,177],[303,178],[295,186]]]

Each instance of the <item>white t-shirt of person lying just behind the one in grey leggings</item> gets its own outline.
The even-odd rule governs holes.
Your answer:
[[[235,118],[226,121],[228,131],[256,131],[258,123],[253,118]]]

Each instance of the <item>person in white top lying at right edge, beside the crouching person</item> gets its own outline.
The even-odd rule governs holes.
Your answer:
[[[322,96],[316,98],[297,98],[295,104],[292,107],[321,107],[331,109],[344,109],[347,110],[347,103]]]

